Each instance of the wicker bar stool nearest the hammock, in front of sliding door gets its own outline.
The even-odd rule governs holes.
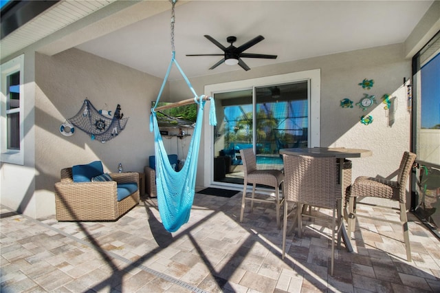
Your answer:
[[[253,149],[241,149],[241,160],[243,160],[243,169],[245,173],[243,197],[241,199],[240,221],[243,221],[245,210],[245,201],[250,201],[250,212],[254,208],[254,202],[273,202],[270,199],[259,199],[255,197],[256,184],[272,186],[275,188],[275,208],[276,208],[276,225],[281,228],[280,223],[280,206],[283,204],[283,198],[280,196],[280,185],[284,182],[284,174],[279,170],[257,170],[256,156]],[[252,196],[246,197],[246,189],[248,183],[252,183]]]

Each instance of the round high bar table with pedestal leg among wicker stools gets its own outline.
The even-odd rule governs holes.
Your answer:
[[[334,157],[338,159],[339,165],[339,183],[342,186],[344,182],[342,172],[344,169],[344,160],[347,158],[365,158],[373,155],[372,151],[368,149],[346,149],[346,148],[331,148],[331,147],[314,147],[314,148],[296,148],[296,149],[280,149],[280,155],[309,155],[311,157]],[[341,192],[344,193],[343,188]],[[344,198],[344,194],[342,194]],[[338,221],[342,220],[342,201],[338,204]],[[350,237],[347,234],[347,230],[344,225],[341,225],[342,239],[344,240],[345,247],[349,252],[353,252],[353,246],[351,246]],[[340,246],[340,237],[338,237],[338,246]]]

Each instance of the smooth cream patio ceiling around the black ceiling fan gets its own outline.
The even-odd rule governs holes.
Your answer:
[[[246,52],[276,54],[278,58],[243,58],[251,68],[246,74],[265,65],[403,43],[432,3],[432,0],[178,1],[176,58],[188,77],[232,71],[245,74],[238,65],[222,64],[209,70],[221,59],[219,56],[186,56],[221,53],[204,34],[226,47],[227,36],[236,36],[234,45],[238,47],[263,35],[265,40]],[[3,38],[1,56],[65,30],[65,34],[54,38],[53,44],[49,41],[37,51],[52,55],[76,47],[163,78],[170,61],[170,7],[168,1],[62,0]],[[100,30],[87,26],[75,28],[78,20],[91,19],[100,13],[98,10],[107,13],[101,17],[107,24],[101,23]],[[139,15],[133,16],[136,10]],[[83,34],[88,34],[87,38],[82,38]],[[62,49],[55,50],[61,41]],[[169,78],[175,79],[181,79],[177,70],[171,72]]]

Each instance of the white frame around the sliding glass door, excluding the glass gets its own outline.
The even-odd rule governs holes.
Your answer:
[[[263,87],[280,83],[294,83],[307,80],[308,82],[308,100],[309,100],[309,129],[308,138],[309,147],[320,146],[320,92],[321,80],[320,69],[311,69],[303,72],[293,72],[289,74],[280,74],[275,76],[265,76],[261,78],[252,78],[248,80],[237,80],[228,83],[217,83],[206,85],[204,94],[214,96],[214,94],[228,91],[241,91],[243,89],[253,89],[252,100],[255,100],[255,87]],[[208,104],[207,104],[208,105]],[[210,107],[210,105],[208,106]],[[210,127],[208,118],[203,120],[203,186],[232,186],[222,182],[214,182],[214,127]],[[255,151],[255,150],[254,150]]]

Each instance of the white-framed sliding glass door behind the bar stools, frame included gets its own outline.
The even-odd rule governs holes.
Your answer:
[[[258,168],[281,170],[280,149],[320,146],[320,76],[310,69],[206,85],[217,126],[205,120],[203,185],[242,185],[240,149],[254,149]]]

